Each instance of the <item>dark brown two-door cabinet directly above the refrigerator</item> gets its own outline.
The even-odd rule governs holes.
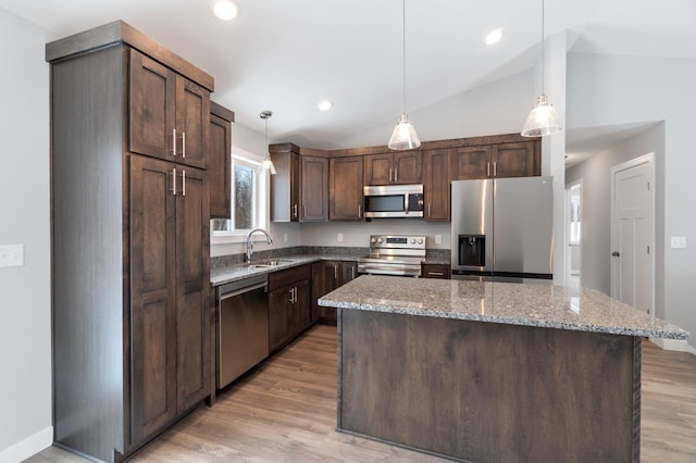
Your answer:
[[[538,140],[456,148],[450,179],[538,176],[540,158]]]

